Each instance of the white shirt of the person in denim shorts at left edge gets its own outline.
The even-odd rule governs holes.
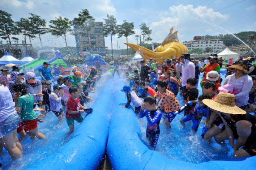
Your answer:
[[[11,92],[4,85],[0,85],[0,122],[15,113]]]

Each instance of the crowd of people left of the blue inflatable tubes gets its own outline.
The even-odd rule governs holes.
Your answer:
[[[21,73],[20,67],[15,65],[10,73],[10,81],[7,77],[9,70],[1,69],[0,151],[4,147],[13,160],[22,156],[20,141],[26,134],[32,140],[47,137],[38,131],[38,122],[43,123],[42,117],[54,113],[58,118],[56,124],[66,117],[69,127],[66,135],[69,135],[74,132],[74,121],[81,123],[92,113],[91,108],[85,107],[86,103],[93,100],[88,96],[89,93],[95,93],[95,80],[94,77],[87,77],[88,69],[87,72],[83,70],[83,73],[73,69],[72,73],[64,78],[60,71],[55,70],[53,75],[49,65],[44,62],[43,67],[38,70],[42,80],[37,79],[32,71],[25,70],[25,74]],[[23,67],[23,71],[24,68],[26,67]],[[55,77],[58,77],[57,84],[52,87],[52,80],[56,81]],[[36,111],[41,114],[38,115]],[[82,113],[86,113],[85,117],[82,117]]]

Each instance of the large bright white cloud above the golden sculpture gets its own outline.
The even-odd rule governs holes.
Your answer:
[[[188,32],[192,36],[196,36],[196,34],[202,33],[202,30],[212,32],[212,24],[218,25],[226,21],[228,17],[228,15],[214,12],[212,8],[206,6],[198,6],[197,8],[194,8],[193,5],[171,6],[169,13],[162,14],[160,21],[151,23],[150,29],[153,30],[153,40],[156,37],[164,40],[172,26],[174,26],[174,31],[178,30],[178,36],[180,33],[188,36]]]

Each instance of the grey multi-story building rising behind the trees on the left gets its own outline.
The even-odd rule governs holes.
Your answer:
[[[76,33],[76,49],[78,55],[86,55],[86,53],[99,54],[106,56],[105,37],[103,35],[103,22],[95,22],[96,26],[90,30],[79,29],[73,20]],[[86,26],[83,26],[86,27]]]

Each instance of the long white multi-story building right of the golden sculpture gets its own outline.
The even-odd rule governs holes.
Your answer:
[[[195,48],[205,50],[206,47],[210,47],[217,53],[222,51],[223,40],[201,40],[200,36],[195,36],[194,40],[190,40],[183,44],[188,48],[188,51],[191,51]]]

